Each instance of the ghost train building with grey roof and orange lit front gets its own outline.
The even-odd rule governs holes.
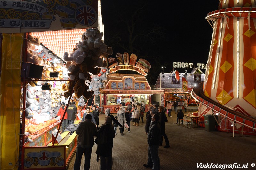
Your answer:
[[[198,103],[191,97],[191,91],[199,82],[204,81],[205,74],[194,68],[191,73],[179,73],[177,70],[171,73],[160,73],[154,89],[164,90],[161,96],[161,106],[167,107],[167,102],[174,104],[174,99],[178,100],[178,109],[182,108],[184,101],[187,101],[187,110],[197,110]]]

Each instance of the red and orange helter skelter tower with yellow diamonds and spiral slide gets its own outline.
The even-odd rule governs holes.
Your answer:
[[[256,1],[220,0],[204,82],[192,91],[198,116],[219,115],[218,130],[256,135]]]

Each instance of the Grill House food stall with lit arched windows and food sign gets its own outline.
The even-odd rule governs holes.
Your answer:
[[[145,102],[147,111],[151,104],[151,95],[164,94],[164,90],[151,90],[146,79],[151,65],[145,59],[138,59],[135,54],[117,53],[116,57],[108,58],[109,74],[105,82],[105,88],[101,89],[101,100],[104,110],[110,108],[111,113],[117,113],[121,101],[140,104]],[[132,71],[133,74],[118,73],[122,70]],[[103,112],[104,112],[103,110]]]

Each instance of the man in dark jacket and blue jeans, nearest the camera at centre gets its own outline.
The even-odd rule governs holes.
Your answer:
[[[143,165],[146,168],[152,168],[152,170],[160,170],[160,158],[158,156],[160,124],[158,120],[159,115],[153,114],[148,131],[148,163]]]

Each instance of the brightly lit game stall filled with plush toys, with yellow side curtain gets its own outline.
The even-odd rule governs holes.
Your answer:
[[[84,54],[89,46],[81,40],[90,39],[89,32],[96,32],[99,46],[104,46],[97,55],[104,53],[107,57],[103,33],[97,29],[101,21],[98,10],[97,0],[1,2],[0,169],[67,168],[76,151],[76,134],[60,135],[63,120],[55,116],[62,102],[75,101],[79,108],[78,104],[85,103],[83,99],[92,97],[85,81],[90,78],[89,73],[98,74],[102,58],[97,56],[100,59],[96,69],[95,63],[90,63],[90,70],[71,67],[75,66],[75,51],[81,52],[79,41],[86,51],[79,55],[76,66],[84,68],[81,65],[88,63]],[[89,31],[85,34],[86,30]],[[83,79],[74,71],[81,73],[79,77]],[[74,87],[79,84],[77,81],[82,84]],[[87,89],[80,88],[86,86]]]

